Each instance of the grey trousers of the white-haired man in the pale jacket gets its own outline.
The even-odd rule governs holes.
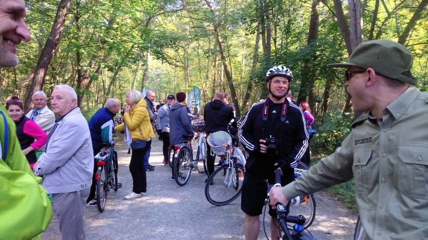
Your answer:
[[[90,188],[52,194],[53,209],[58,217],[62,240],[85,240],[85,207]]]

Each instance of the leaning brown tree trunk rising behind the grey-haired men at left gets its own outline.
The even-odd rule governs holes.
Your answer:
[[[49,38],[46,40],[45,47],[43,48],[42,54],[37,61],[35,74],[25,100],[24,112],[28,112],[30,110],[31,96],[33,93],[43,89],[46,72],[51,62],[52,55],[58,46],[58,42],[64,28],[66,15],[68,13],[68,9],[70,8],[70,3],[71,0],[61,0],[59,3],[51,33]]]

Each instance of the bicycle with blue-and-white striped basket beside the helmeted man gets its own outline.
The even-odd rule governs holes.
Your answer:
[[[230,133],[224,134],[230,135]],[[238,139],[236,139],[235,142],[236,141],[238,141]],[[232,138],[231,142],[234,142]],[[211,146],[213,151],[216,151],[216,148],[219,148],[219,146]],[[232,144],[232,146],[227,145],[226,152],[218,153],[220,153],[220,155],[225,154],[226,160],[222,166],[218,167],[208,177],[205,185],[205,198],[213,205],[222,206],[231,203],[241,195],[246,157],[240,148],[235,147],[234,144]]]

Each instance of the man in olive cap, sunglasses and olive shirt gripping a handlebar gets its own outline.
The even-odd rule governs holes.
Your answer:
[[[355,111],[351,134],[296,181],[274,188],[270,203],[354,179],[362,239],[428,238],[428,93],[413,85],[413,57],[389,40],[357,46],[345,68]]]

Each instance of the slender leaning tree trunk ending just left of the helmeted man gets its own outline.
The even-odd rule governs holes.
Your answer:
[[[229,71],[229,67],[228,67],[228,64],[226,62],[226,54],[225,54],[225,50],[223,48],[223,43],[220,40],[220,30],[219,30],[217,23],[215,22],[216,13],[214,12],[213,5],[209,2],[209,0],[205,0],[205,3],[211,12],[212,27],[214,28],[214,32],[216,34],[216,41],[217,41],[217,45],[219,47],[220,57],[222,58],[222,63],[223,63],[223,68],[224,68],[225,75],[226,75],[226,80],[228,81],[229,89],[231,91],[230,95],[232,98],[232,102],[235,105],[236,116],[239,117],[239,116],[241,116],[241,112],[240,112],[240,108],[239,108],[239,102],[238,102],[238,99],[236,97],[236,91],[235,91],[235,86],[233,84],[232,75]]]

